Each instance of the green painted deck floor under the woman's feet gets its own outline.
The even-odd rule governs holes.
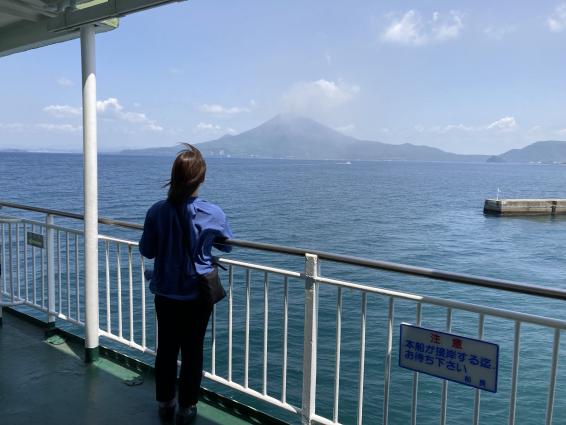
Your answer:
[[[82,360],[79,344],[44,341],[43,330],[4,314],[0,328],[0,424],[160,424],[151,374],[101,358]],[[196,425],[250,423],[200,402]]]

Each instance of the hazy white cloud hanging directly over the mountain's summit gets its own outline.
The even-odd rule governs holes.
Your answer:
[[[352,100],[360,92],[358,85],[347,85],[342,81],[325,79],[295,83],[283,96],[286,109],[296,113],[339,107]]]

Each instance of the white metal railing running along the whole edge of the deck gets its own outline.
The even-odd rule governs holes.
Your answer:
[[[13,214],[0,216],[3,267],[0,291],[3,300],[0,301],[3,305],[25,305],[44,312],[50,322],[57,318],[84,326],[82,232],[56,225],[55,216],[52,211],[46,214],[44,221]],[[130,225],[130,229],[139,231],[139,226]],[[44,248],[29,245],[34,236],[30,233],[43,236]],[[234,244],[246,245],[241,241]],[[254,245],[259,244],[247,245],[258,248]],[[284,247],[261,248],[284,250]],[[287,253],[299,255],[295,250],[285,249]],[[99,281],[103,282],[99,285],[99,334],[154,355],[157,348],[155,316],[153,308],[146,306],[145,265],[137,242],[100,235],[99,252]],[[486,323],[495,320],[502,323],[498,327],[512,328],[501,341],[503,351],[508,353],[502,357],[502,362],[511,365],[509,375],[503,375],[505,367],[500,371],[506,400],[501,395],[494,398],[489,394],[490,405],[501,407],[504,403],[507,414],[503,419],[501,416],[494,419],[488,409],[486,423],[518,423],[521,337],[544,332],[552,334],[552,343],[547,350],[549,367],[544,372],[547,375],[538,376],[537,385],[546,386],[546,396],[541,398],[544,406],[539,409],[544,412],[545,424],[553,423],[560,335],[566,329],[565,320],[497,308],[489,303],[471,304],[326,277],[321,274],[322,260],[340,262],[340,258],[316,251],[302,253],[304,269],[299,270],[232,257],[219,259],[220,264],[228,268],[225,277],[228,297],[215,307],[210,322],[209,366],[204,372],[207,379],[289,412],[302,423],[319,424],[438,421],[446,424],[450,423],[451,414],[449,395],[457,393],[467,397],[472,391],[473,400],[470,405],[458,407],[459,415],[466,412],[470,422],[479,424],[481,391],[466,387],[462,390],[449,385],[448,381],[440,382],[435,419],[430,419],[430,408],[419,415],[419,398],[430,397],[430,391],[423,391],[422,386],[428,389],[438,380],[394,367],[396,324],[406,321],[421,325],[427,320],[450,332],[459,323],[459,332],[484,339]],[[351,257],[344,257],[343,263],[356,264]],[[523,292],[522,285],[514,282],[370,260],[364,260],[359,266],[481,286],[503,286],[503,289]],[[556,289],[524,285],[524,292],[566,299],[566,293]],[[376,308],[377,303],[381,307]],[[457,320],[461,316],[466,318],[463,328]],[[375,326],[377,322],[383,326]],[[319,370],[324,373],[319,374]],[[367,380],[368,374],[371,381]],[[382,383],[379,391],[376,382]],[[370,385],[372,389],[367,391]],[[403,385],[403,394],[392,391],[394,385]],[[375,398],[377,392],[379,400]]]

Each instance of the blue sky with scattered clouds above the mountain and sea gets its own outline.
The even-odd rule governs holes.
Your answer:
[[[99,148],[170,146],[281,112],[498,154],[566,140],[564,1],[190,0],[97,36]],[[78,41],[0,58],[0,148],[80,151]]]

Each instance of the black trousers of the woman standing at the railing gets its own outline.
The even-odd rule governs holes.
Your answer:
[[[157,313],[157,357],[155,395],[157,401],[175,398],[177,359],[181,350],[178,403],[197,404],[203,368],[204,334],[212,307],[202,300],[179,301],[155,296]]]

